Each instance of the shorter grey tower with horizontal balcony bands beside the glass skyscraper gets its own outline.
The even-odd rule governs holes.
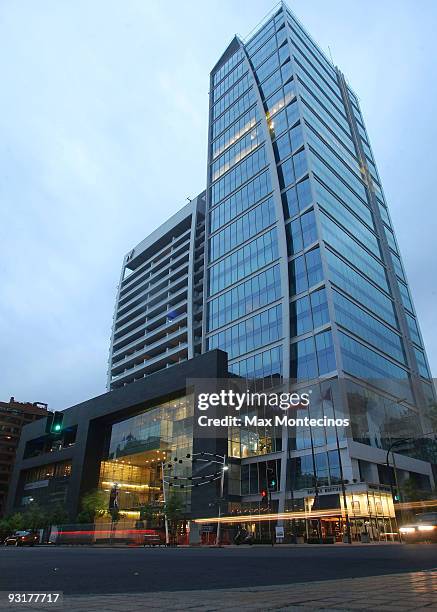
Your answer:
[[[111,336],[108,389],[201,351],[205,192],[123,260]]]

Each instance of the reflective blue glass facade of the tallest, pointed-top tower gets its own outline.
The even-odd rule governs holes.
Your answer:
[[[273,342],[284,377],[403,378],[421,403],[429,369],[358,100],[285,5],[211,73],[207,218],[204,350],[233,347],[239,372]],[[275,333],[253,342],[275,301]]]

